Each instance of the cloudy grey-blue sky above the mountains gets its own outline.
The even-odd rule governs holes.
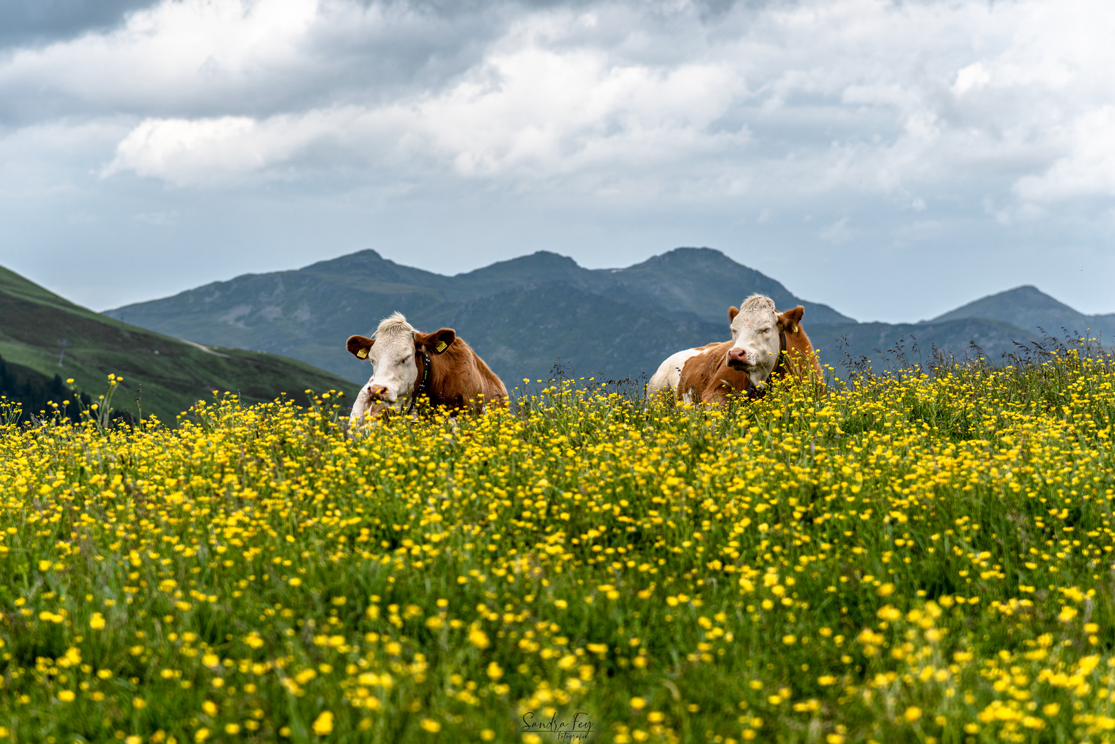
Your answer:
[[[1115,312],[1115,3],[0,0],[0,264],[718,249],[860,320]]]

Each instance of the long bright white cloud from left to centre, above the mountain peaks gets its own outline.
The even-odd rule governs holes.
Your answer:
[[[746,144],[709,133],[741,83],[723,65],[609,65],[593,51],[531,44],[493,54],[438,94],[380,107],[338,106],[266,118],[148,118],[104,170],[175,184],[215,184],[290,168],[414,171],[525,182],[610,166],[648,171]]]

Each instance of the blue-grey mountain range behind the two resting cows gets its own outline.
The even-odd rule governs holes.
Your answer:
[[[867,359],[875,368],[902,347],[963,357],[971,344],[993,360],[1038,327],[1115,332],[1115,313],[1085,316],[1021,287],[918,323],[861,323],[794,296],[782,283],[707,248],[679,248],[623,269],[585,269],[537,252],[453,277],[406,267],[372,250],[302,269],[244,274],[105,315],[167,336],[281,354],[353,383],[370,374],[345,350],[398,310],[423,330],[452,327],[508,387],[566,375],[650,375],[679,349],[728,337],[727,309],[759,292],[780,309],[805,307],[804,326],[822,361]],[[917,352],[914,345],[917,344]]]

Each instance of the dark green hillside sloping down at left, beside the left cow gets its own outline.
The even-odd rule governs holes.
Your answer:
[[[338,344],[343,346],[343,338]],[[135,390],[142,386],[144,415],[156,414],[168,423],[214,389],[239,392],[245,403],[272,400],[280,393],[304,402],[308,388],[348,395],[358,389],[294,359],[210,348],[113,320],[2,267],[0,358],[20,370],[21,378],[29,370],[48,381],[56,375],[74,378],[94,398],[105,390],[109,373],[123,376],[115,406],[136,414]]]

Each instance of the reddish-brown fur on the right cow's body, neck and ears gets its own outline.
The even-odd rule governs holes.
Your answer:
[[[738,312],[733,306],[728,310],[728,321],[730,322]],[[813,350],[809,337],[802,328],[803,315],[805,308],[802,306],[778,313],[778,330],[786,334],[786,352],[777,376],[795,375],[799,379],[812,378],[820,383],[823,379],[821,361]],[[727,352],[730,348],[731,341],[698,347],[701,354],[687,359],[681,368],[678,399],[686,393],[691,393],[692,399],[700,399],[702,403],[727,403],[734,396],[746,397],[752,381],[746,371],[733,369],[727,365]]]

